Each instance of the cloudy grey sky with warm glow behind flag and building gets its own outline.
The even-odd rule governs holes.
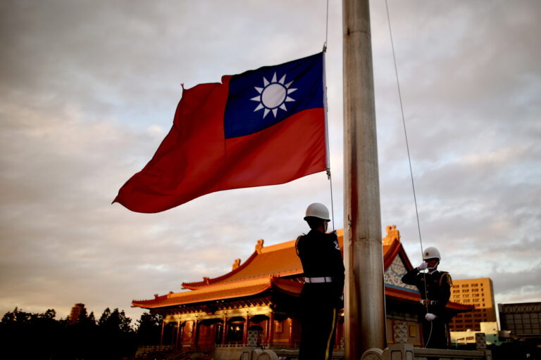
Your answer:
[[[423,245],[496,302],[541,301],[541,2],[389,0]],[[325,0],[0,3],[0,312],[97,316],[219,276],[295,238],[325,174],[213,193],[159,214],[111,201],[171,127],[181,84],[321,51]],[[342,4],[327,84],[343,226]],[[421,247],[385,2],[371,1],[382,229]],[[385,231],[383,231],[385,234]],[[135,321],[134,319],[134,321]]]

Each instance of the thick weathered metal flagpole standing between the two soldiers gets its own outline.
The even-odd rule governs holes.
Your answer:
[[[345,359],[385,349],[378,145],[368,0],[343,0]]]

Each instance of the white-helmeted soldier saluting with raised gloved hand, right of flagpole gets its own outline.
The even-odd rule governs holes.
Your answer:
[[[449,316],[445,305],[449,302],[453,283],[449,273],[437,270],[441,259],[436,248],[426,248],[423,251],[423,263],[402,276],[402,282],[415,285],[421,293],[423,312],[419,320],[423,325],[425,347],[447,349]],[[421,273],[426,269],[427,273]]]

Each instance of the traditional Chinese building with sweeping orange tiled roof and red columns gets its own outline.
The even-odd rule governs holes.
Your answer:
[[[343,249],[342,230],[338,231],[338,240]],[[421,296],[415,287],[400,280],[413,266],[396,226],[387,226],[383,255],[387,342],[394,342],[394,323],[402,321],[407,324],[408,342],[423,345],[421,324],[417,321]],[[249,259],[242,264],[236,259],[227,274],[182,283],[185,291],[134,300],[132,306],[163,315],[161,341],[176,349],[246,344],[249,329],[259,330],[258,342],[266,347],[293,348],[300,342],[295,309],[303,281],[295,240],[268,247],[258,240]],[[472,308],[454,302],[447,305],[453,316]],[[335,339],[338,347],[344,338],[343,323],[342,311]]]

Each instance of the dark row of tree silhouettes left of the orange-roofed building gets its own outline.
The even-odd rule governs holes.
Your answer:
[[[82,309],[73,323],[56,319],[54,309],[33,314],[15,307],[0,321],[0,339],[13,359],[121,360],[132,358],[138,345],[158,345],[162,320],[147,312],[132,326],[123,310],[106,308],[98,321]]]

